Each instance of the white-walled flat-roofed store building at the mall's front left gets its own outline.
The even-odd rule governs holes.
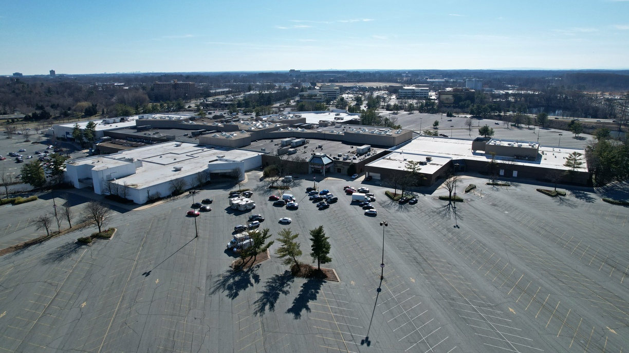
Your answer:
[[[245,171],[262,165],[263,154],[168,142],[75,160],[66,164],[66,176],[76,188],[91,187],[97,194],[113,193],[145,204],[154,195],[170,195],[174,180],[184,180],[185,188],[219,174],[237,172],[243,180]]]

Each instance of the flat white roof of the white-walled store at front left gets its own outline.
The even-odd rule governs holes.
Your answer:
[[[208,168],[209,163],[221,163],[218,158],[242,161],[262,154],[264,153],[244,149],[209,147],[203,144],[171,141],[128,149],[113,155],[82,158],[69,164],[94,164],[97,165],[94,166],[94,168],[98,168],[97,170],[104,170],[139,160],[142,161],[142,167],[136,168],[135,174],[116,178],[115,183],[126,182],[128,186],[145,188],[168,182],[175,176],[181,177],[204,171]],[[133,161],[130,158],[133,158]],[[175,167],[181,167],[181,170],[175,171]]]

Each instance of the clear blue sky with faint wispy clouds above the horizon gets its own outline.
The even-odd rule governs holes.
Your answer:
[[[629,0],[0,0],[0,74],[629,68]]]

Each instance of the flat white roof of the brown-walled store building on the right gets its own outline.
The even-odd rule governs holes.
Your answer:
[[[506,140],[504,140],[506,141]],[[527,144],[529,142],[522,142]],[[404,158],[406,161],[426,161],[426,156],[430,156],[432,161],[428,162],[428,165],[421,166],[421,170],[425,173],[432,173],[437,171],[438,168],[443,166],[450,160],[479,160],[489,161],[491,155],[486,155],[484,151],[472,151],[472,140],[468,139],[453,139],[453,138],[439,138],[435,136],[418,136],[412,139],[409,143],[403,144],[399,147],[391,148],[392,153],[373,161],[367,165],[376,166],[379,168],[392,168],[404,169]],[[578,148],[553,148],[540,146],[540,155],[538,155],[535,161],[525,160],[513,160],[509,157],[496,156],[496,160],[513,160],[516,165],[528,165],[528,166],[540,166],[543,168],[554,168],[559,170],[569,170],[564,166],[565,158],[572,152],[579,152],[585,155],[584,149]],[[582,157],[584,162],[579,171],[587,171],[584,156]]]

